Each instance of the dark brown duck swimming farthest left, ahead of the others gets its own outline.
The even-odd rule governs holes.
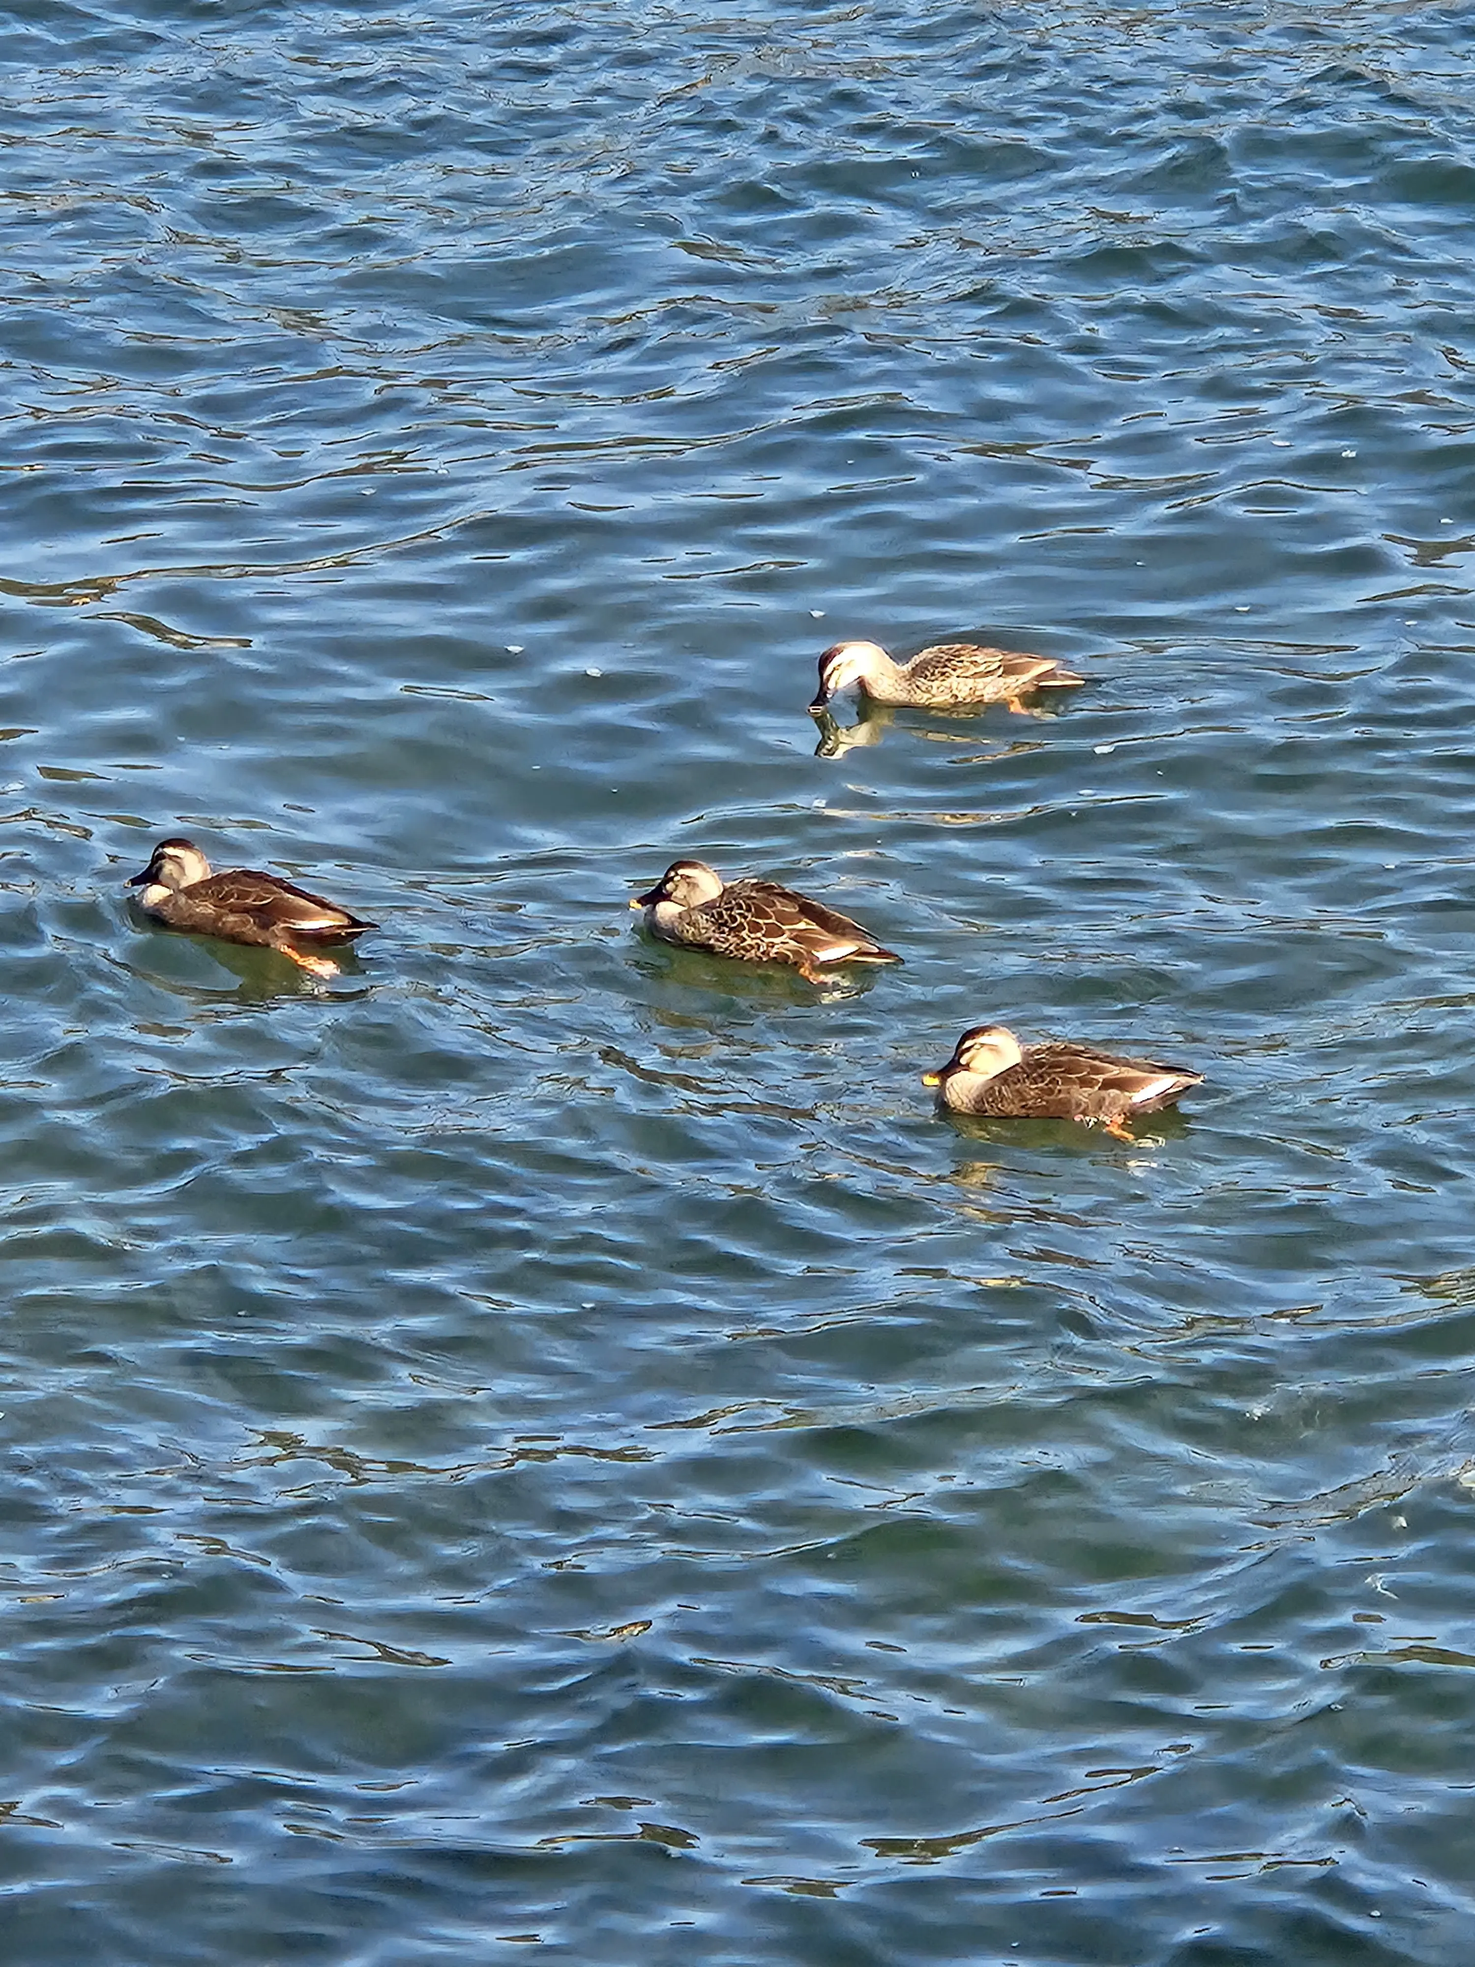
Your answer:
[[[128,887],[144,889],[138,905],[165,928],[279,950],[289,962],[319,978],[336,976],[338,966],[326,956],[297,948],[299,942],[315,946],[352,942],[354,936],[380,926],[258,867],[224,867],[220,873],[210,873],[208,860],[183,836],[161,840],[148,867],[128,877]]]

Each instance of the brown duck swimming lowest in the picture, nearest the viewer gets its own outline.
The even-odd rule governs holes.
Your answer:
[[[1121,1058],[1072,1039],[1021,1044],[1005,1025],[974,1025],[922,1086],[936,1086],[954,1113],[1007,1119],[1078,1119],[1131,1141],[1127,1121],[1174,1105],[1202,1072],[1160,1066],[1152,1058]]]

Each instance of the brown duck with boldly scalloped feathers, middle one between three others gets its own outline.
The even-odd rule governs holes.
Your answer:
[[[859,923],[777,881],[724,881],[706,862],[673,862],[631,909],[663,942],[678,942],[747,964],[791,964],[806,984],[824,984],[836,964],[899,964]]]

